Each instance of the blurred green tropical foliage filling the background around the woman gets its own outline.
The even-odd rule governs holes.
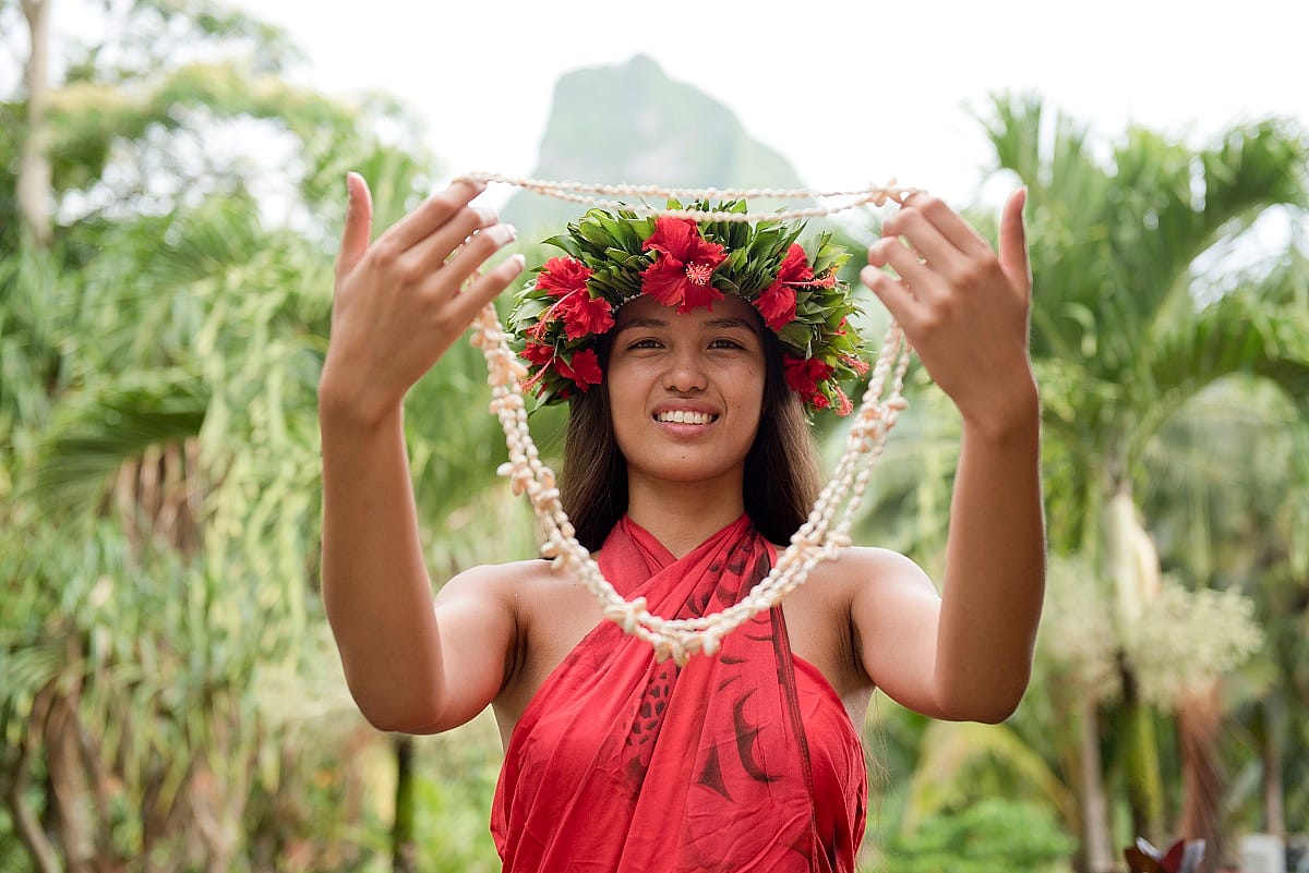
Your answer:
[[[359,716],[317,597],[315,387],[342,179],[369,180],[380,231],[428,193],[436,159],[385,95],[289,85],[285,34],[221,4],[84,12],[98,37],[68,50],[50,94],[48,247],[21,231],[24,137],[0,140],[0,873],[42,869],[22,815],[29,843],[72,869],[372,873],[391,869],[398,804],[419,869],[495,869],[493,725],[416,738],[412,795],[397,797],[397,745]],[[0,1],[14,56],[21,22]],[[645,60],[620,72],[656,105],[682,94]],[[25,108],[0,95],[7,131]],[[1287,822],[1306,821],[1309,269],[1295,239],[1253,267],[1221,257],[1268,214],[1302,226],[1304,136],[1266,122],[1192,148],[1134,129],[1102,159],[1039,101],[997,98],[980,123],[996,167],[1031,189],[1051,602],[1007,724],[874,702],[876,869],[1085,861],[1088,792],[1109,806],[1098,836],[1122,846],[1147,804],[1164,826],[1190,814],[1179,774],[1203,755],[1229,774],[1200,799],[1220,802],[1224,832],[1267,827],[1271,789]],[[733,170],[791,184],[771,152],[746,153]],[[860,540],[939,576],[958,422],[914,380]],[[484,404],[465,344],[408,397],[436,579],[533,553],[522,504],[496,487]],[[558,410],[533,427],[556,456]],[[825,433],[839,447],[842,427]],[[1130,511],[1113,515],[1119,494]],[[1119,572],[1123,542],[1155,549],[1162,600]],[[1124,699],[1141,669],[1158,681]],[[1216,682],[1223,725],[1199,750],[1178,738],[1196,682]],[[1158,796],[1132,793],[1151,770]]]

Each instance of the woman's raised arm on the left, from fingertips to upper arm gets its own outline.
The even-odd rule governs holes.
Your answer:
[[[513,239],[493,212],[469,205],[482,186],[454,183],[372,244],[368,187],[351,174],[347,188],[318,388],[323,602],[364,716],[385,731],[432,733],[471,719],[495,698],[514,617],[496,584],[461,584],[440,619],[433,610],[403,400],[522,272],[522,260],[508,259],[461,291]]]

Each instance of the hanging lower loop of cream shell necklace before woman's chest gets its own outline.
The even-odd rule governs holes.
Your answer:
[[[509,478],[514,495],[526,494],[531,502],[545,532],[541,555],[551,561],[555,571],[571,568],[577,572],[600,599],[606,618],[653,646],[658,661],[672,657],[679,667],[696,652],[717,652],[725,635],[778,605],[805,584],[814,567],[823,561],[835,561],[840,549],[851,545],[850,528],[868,487],[872,464],[882,453],[888,433],[907,406],[903,389],[911,349],[899,325],[893,321],[873,366],[846,451],[809,519],[791,537],[791,545],[779,555],[778,563],[734,606],[699,618],[666,619],[651,614],[644,597],[624,600],[577,541],[559,501],[555,473],[542,463],[528,430],[521,386],[528,370],[509,348],[493,305],[488,303],[474,320],[470,341],[482,349],[486,358],[491,412],[500,420],[509,447],[508,463],[496,472]]]

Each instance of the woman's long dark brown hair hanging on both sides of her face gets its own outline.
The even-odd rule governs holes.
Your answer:
[[[800,395],[787,387],[781,344],[761,325],[764,379],[759,431],[745,459],[746,515],[770,542],[787,544],[818,499],[818,450]],[[600,359],[607,365],[602,342]],[[568,401],[560,499],[577,540],[594,552],[627,511],[627,460],[618,450],[609,413],[609,383],[601,380]]]

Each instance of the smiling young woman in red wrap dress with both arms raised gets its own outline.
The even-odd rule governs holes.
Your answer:
[[[944,596],[907,558],[850,548],[720,651],[677,667],[543,561],[463,572],[433,609],[402,401],[524,264],[461,293],[513,238],[470,205],[478,184],[456,183],[373,243],[368,189],[356,175],[348,188],[319,389],[322,582],[364,715],[431,733],[493,707],[507,870],[853,870],[867,800],[855,725],[873,689],[932,717],[994,723],[1028,684],[1045,546],[1025,192],[1005,205],[999,254],[914,195],[861,272],[962,414]],[[737,602],[808,512],[804,406],[842,396],[813,348],[847,333],[818,324],[796,352],[793,331],[774,331],[795,312],[779,315],[762,286],[715,290],[723,264],[757,259],[728,261],[694,222],[644,227],[628,261],[639,280],[615,268],[597,281],[588,263],[603,269],[606,255],[573,251],[538,276],[517,327],[538,387],[571,392],[564,501],[579,538],[624,597],[699,616]],[[802,250],[774,255],[761,269],[775,288],[833,288]]]

